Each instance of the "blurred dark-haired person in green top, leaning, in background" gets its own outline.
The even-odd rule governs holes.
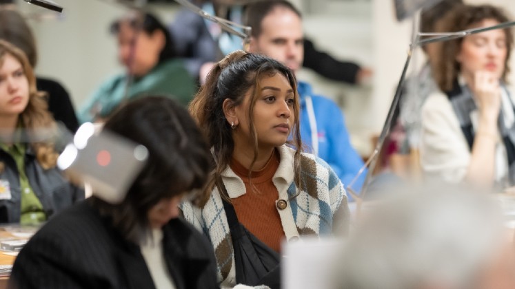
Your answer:
[[[101,121],[121,103],[149,94],[176,98],[186,106],[196,92],[194,78],[177,58],[175,44],[153,14],[134,10],[110,27],[118,38],[119,61],[127,70],[109,78],[80,109],[79,121]]]

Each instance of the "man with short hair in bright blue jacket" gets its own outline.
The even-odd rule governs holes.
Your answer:
[[[250,52],[281,61],[294,72],[301,69],[304,52],[302,19],[299,10],[290,2],[276,0],[250,4],[245,10],[244,23],[252,28]],[[366,172],[350,184],[363,166],[363,160],[350,144],[341,109],[329,98],[313,94],[308,83],[299,81],[298,90],[303,142],[312,153],[330,164],[345,188],[352,185],[354,191],[360,191]]]

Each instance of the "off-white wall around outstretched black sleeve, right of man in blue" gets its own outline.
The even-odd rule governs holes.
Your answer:
[[[373,67],[372,13],[370,1],[327,1],[317,3],[315,13],[303,14],[305,34],[316,47],[332,56]],[[321,7],[325,5],[325,7]],[[303,8],[301,6],[301,8]],[[356,87],[330,81],[309,69],[302,69],[299,79],[309,81],[316,94],[332,98],[345,113],[347,127],[354,147],[361,154],[371,151],[370,135],[373,126],[369,111],[372,83]]]

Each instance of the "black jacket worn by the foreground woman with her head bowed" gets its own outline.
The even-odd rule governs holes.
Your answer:
[[[163,227],[163,254],[177,289],[218,288],[212,246],[187,222]],[[154,288],[139,246],[88,200],[55,216],[19,253],[9,288]]]

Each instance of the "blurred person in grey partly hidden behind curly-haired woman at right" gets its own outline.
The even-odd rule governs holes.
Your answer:
[[[421,10],[418,30],[422,33],[436,32],[436,25],[448,12],[463,0],[443,0]],[[427,36],[421,36],[421,39]],[[434,43],[421,46],[425,63],[405,79],[401,97],[392,117],[390,135],[381,149],[376,170],[385,170],[399,177],[414,180],[421,177],[420,138],[421,110],[427,97],[438,90],[434,82],[431,61],[436,57]]]

